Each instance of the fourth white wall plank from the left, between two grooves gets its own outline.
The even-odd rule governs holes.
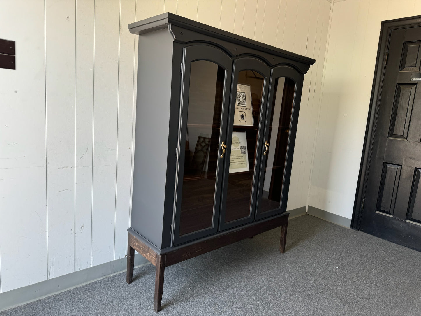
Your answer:
[[[92,265],[114,259],[120,2],[96,1],[93,55]]]

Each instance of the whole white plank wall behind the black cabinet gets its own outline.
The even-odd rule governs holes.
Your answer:
[[[165,11],[317,60],[288,209],[306,205],[329,1],[5,1],[16,70],[0,69],[0,292],[125,256],[138,58],[127,24]]]

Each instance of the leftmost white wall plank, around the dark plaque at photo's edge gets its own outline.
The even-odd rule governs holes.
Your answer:
[[[16,70],[0,69],[2,292],[47,279],[44,14],[44,2],[1,4],[1,37],[19,54]]]

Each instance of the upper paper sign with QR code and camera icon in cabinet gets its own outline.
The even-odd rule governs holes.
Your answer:
[[[253,110],[250,86],[237,84],[234,125],[253,126]]]

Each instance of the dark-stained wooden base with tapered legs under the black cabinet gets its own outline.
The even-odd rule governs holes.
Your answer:
[[[156,267],[154,311],[159,312],[161,310],[161,301],[164,289],[165,267],[196,257],[200,254],[210,252],[223,246],[233,244],[242,239],[252,238],[255,235],[263,233],[267,230],[271,230],[273,228],[277,228],[279,226],[281,226],[279,251],[284,253],[288,227],[288,216],[289,214],[286,213],[283,216],[273,218],[272,220],[261,221],[253,226],[232,231],[226,233],[225,235],[219,235],[204,241],[199,240],[195,244],[188,244],[185,247],[177,247],[174,250],[170,250],[161,254],[158,254],[155,252],[155,250],[149,248],[149,246],[147,246],[143,241],[129,232],[127,247],[127,283],[130,284],[133,281],[134,251],[136,250]]]

